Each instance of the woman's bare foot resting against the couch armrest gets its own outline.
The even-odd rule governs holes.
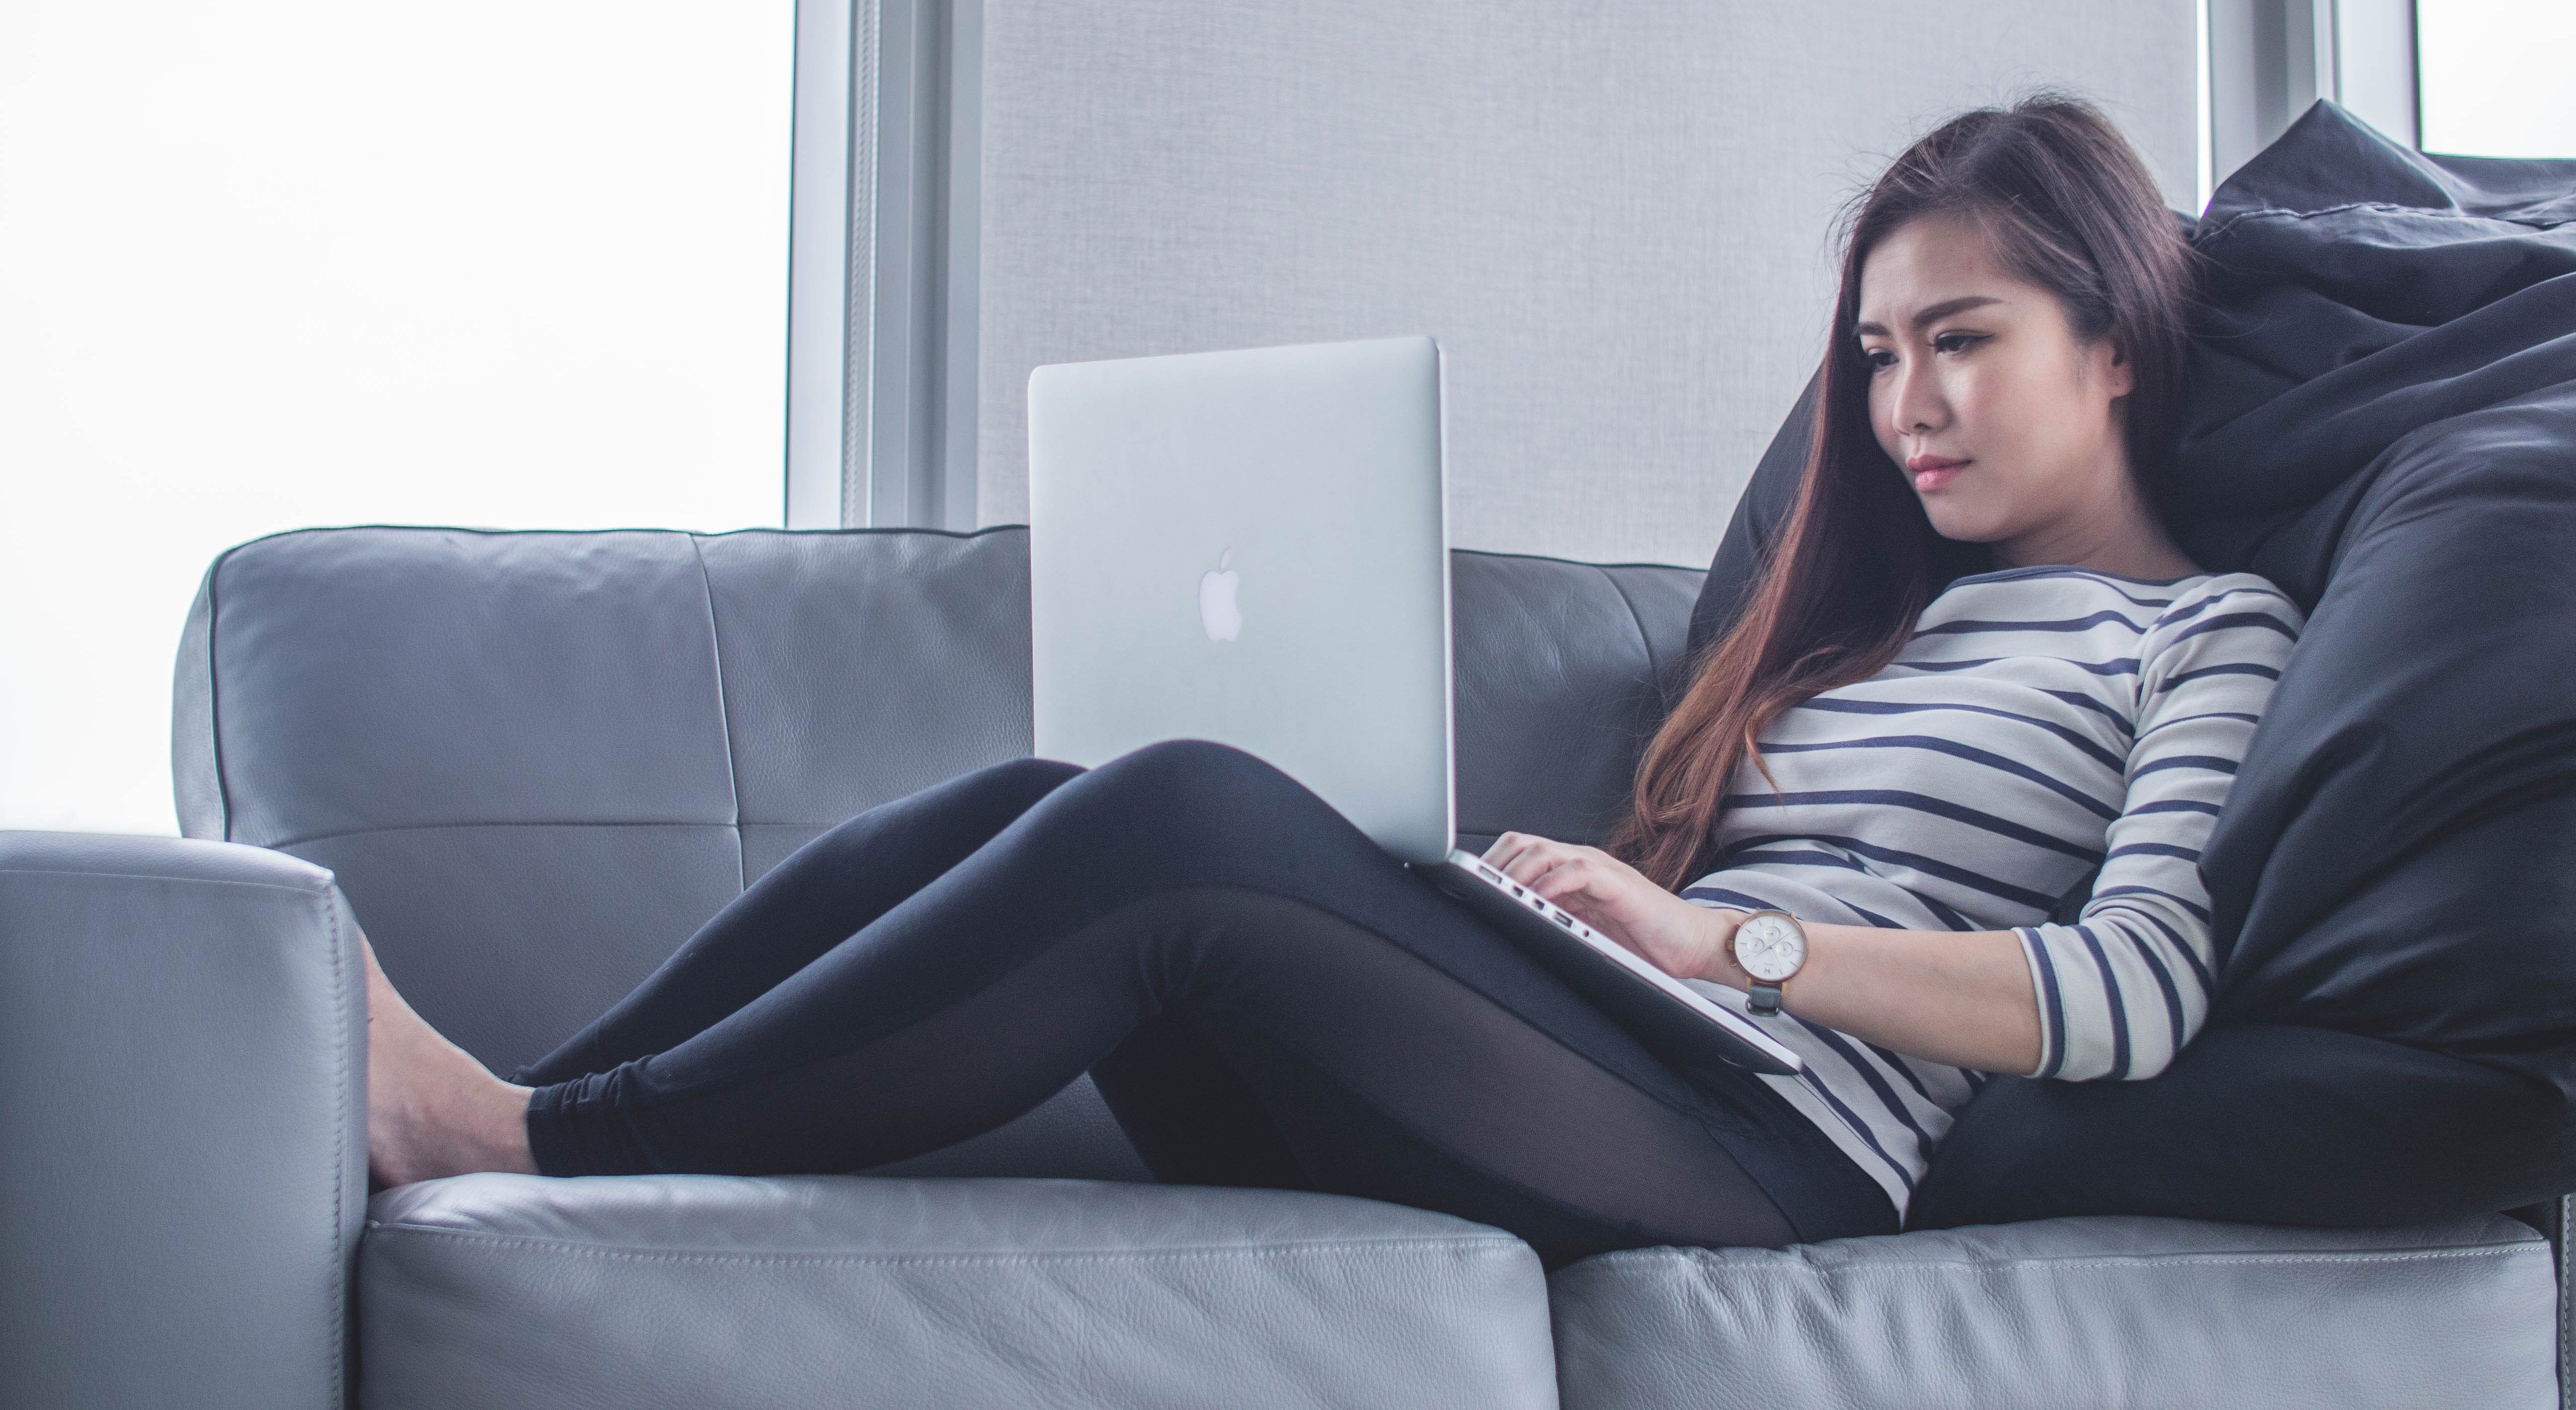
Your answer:
[[[386,1186],[474,1170],[536,1173],[528,1088],[438,1036],[366,951],[366,1165]]]

